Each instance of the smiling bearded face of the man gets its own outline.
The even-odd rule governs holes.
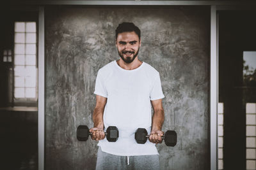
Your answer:
[[[133,32],[119,33],[116,38],[116,47],[122,60],[131,63],[139,53],[141,41],[139,36]]]

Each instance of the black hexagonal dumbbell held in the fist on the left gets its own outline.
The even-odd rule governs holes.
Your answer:
[[[119,137],[119,132],[117,127],[115,126],[109,126],[107,129],[107,132],[104,132],[105,135],[107,136],[107,139],[109,142],[115,142],[117,141]],[[79,141],[87,141],[89,136],[92,133],[89,131],[89,128],[87,125],[79,125],[76,130],[76,138]]]

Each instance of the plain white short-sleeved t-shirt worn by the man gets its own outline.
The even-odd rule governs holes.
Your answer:
[[[103,115],[105,131],[109,126],[116,126],[119,131],[116,142],[106,138],[99,141],[102,152],[121,156],[159,154],[154,143],[147,140],[139,144],[134,139],[138,128],[145,128],[150,134],[150,100],[164,98],[160,76],[154,67],[143,62],[140,67],[127,70],[114,60],[99,69],[94,94],[108,98]]]

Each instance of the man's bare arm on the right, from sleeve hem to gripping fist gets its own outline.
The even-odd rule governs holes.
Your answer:
[[[162,138],[164,132],[162,126],[164,123],[164,109],[162,104],[162,99],[151,101],[154,108],[154,114],[152,117],[152,129],[149,137],[149,141],[152,143],[162,143]]]

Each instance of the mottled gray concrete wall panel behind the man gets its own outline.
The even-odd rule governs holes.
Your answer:
[[[76,128],[93,126],[95,78],[119,59],[115,29],[141,29],[139,58],[155,67],[164,96],[163,131],[175,147],[157,145],[161,169],[209,169],[209,7],[47,6],[45,10],[45,169],[94,169],[97,142],[79,142]]]

